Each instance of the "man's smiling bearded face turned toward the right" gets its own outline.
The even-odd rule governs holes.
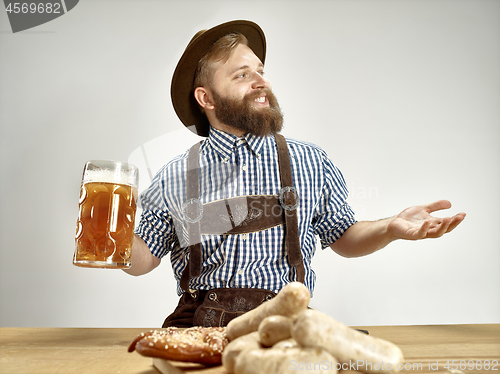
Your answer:
[[[281,131],[283,115],[263,69],[259,58],[243,44],[225,63],[214,64],[210,88],[218,121],[258,136]]]

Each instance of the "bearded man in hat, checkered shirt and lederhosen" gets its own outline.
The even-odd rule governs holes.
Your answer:
[[[141,196],[132,267],[141,275],[170,252],[177,309],[164,327],[225,325],[291,281],[313,291],[316,238],[345,257],[397,239],[436,238],[464,218],[435,218],[448,201],[357,222],[340,171],[319,147],[283,138],[264,76],[264,33],[249,21],[200,31],[175,70],[181,121],[207,137],[167,164]]]

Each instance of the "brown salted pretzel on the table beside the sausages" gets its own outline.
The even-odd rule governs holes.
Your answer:
[[[143,356],[166,360],[213,365],[221,363],[227,343],[224,327],[168,327],[140,334],[128,351],[136,350]]]

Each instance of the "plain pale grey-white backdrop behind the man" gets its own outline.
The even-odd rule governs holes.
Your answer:
[[[364,258],[318,249],[311,305],[350,325],[500,322],[499,14],[487,0],[86,0],[13,34],[1,12],[0,325],[158,327],[173,310],[168,258],[142,277],[72,265],[81,172],[143,150],[157,169],[196,140],[170,79],[195,32],[233,19],[264,29],[283,133],[328,152],[359,220],[442,198],[438,215],[468,214]]]

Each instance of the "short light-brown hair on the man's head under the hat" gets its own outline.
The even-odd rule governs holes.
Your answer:
[[[234,49],[240,44],[248,46],[248,40],[245,35],[239,32],[227,34],[212,44],[200,61],[198,61],[193,88],[210,87],[213,78],[212,64],[219,61],[225,63]]]

